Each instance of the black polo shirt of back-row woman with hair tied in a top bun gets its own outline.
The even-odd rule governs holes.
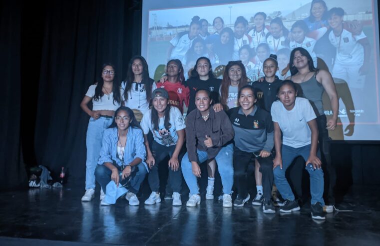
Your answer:
[[[268,83],[265,78],[262,82],[256,81],[252,83],[252,86],[257,89],[257,99],[258,101],[261,100],[262,103],[259,103],[261,107],[263,107],[268,112],[271,111],[271,106],[274,101],[278,100],[277,97],[277,90],[282,84],[281,79],[276,76],[275,81],[272,83]]]

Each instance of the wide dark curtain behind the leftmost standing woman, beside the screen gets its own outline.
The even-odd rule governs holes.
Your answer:
[[[37,163],[53,175],[64,166],[69,180],[84,181],[89,116],[79,103],[102,63],[116,66],[120,83],[140,52],[139,7],[123,0],[46,2],[34,146]]]

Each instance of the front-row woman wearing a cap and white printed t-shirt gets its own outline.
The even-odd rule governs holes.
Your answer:
[[[169,94],[164,88],[157,88],[153,91],[152,104],[152,109],[141,120],[147,149],[146,162],[150,168],[148,181],[152,190],[152,193],[144,203],[146,205],[153,205],[154,203],[161,202],[158,165],[163,164],[162,161],[169,156],[168,182],[170,184],[168,186],[170,187],[168,189],[173,191],[172,204],[179,206],[182,205],[180,194],[182,173],[178,156],[185,141],[185,120],[180,110],[169,104]],[[152,132],[154,138],[151,147],[147,141],[149,131]]]

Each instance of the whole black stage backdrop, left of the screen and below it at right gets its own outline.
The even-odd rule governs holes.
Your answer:
[[[1,1],[0,189],[27,186],[28,167],[84,180],[88,116],[79,103],[103,62],[117,81],[140,53],[141,0]],[[152,74],[153,75],[153,74]],[[380,184],[380,145],[335,143],[338,181]]]

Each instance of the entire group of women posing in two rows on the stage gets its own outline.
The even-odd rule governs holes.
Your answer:
[[[326,137],[327,129],[335,128],[337,94],[331,74],[316,69],[306,49],[295,48],[289,63],[292,76],[280,80],[277,56],[270,55],[263,60],[264,76],[252,82],[242,61],[228,62],[223,79],[218,79],[210,59],[202,56],[185,81],[181,61],[172,59],[166,75],[154,82],[145,59],[134,56],[120,86],[114,66],[104,64],[101,79],[89,87],[81,102],[91,116],[82,201],[94,197],[96,180],[102,205],[115,203],[124,194],[130,205],[138,205],[136,194],[147,175],[152,193],[144,203],[160,202],[158,166],[167,164],[165,199],[182,205],[183,176],[190,190],[186,205],[196,206],[201,201],[200,164],[206,163],[206,199],[213,199],[218,165],[223,206],[244,206],[250,200],[248,166],[253,163],[257,195],[252,204],[263,204],[264,212],[274,213],[274,206],[280,205],[278,199],[272,199],[276,184],[284,199],[280,211],[291,212],[300,207],[285,171],[301,155],[310,173],[312,217],[324,219],[324,173],[318,142]],[[334,111],[328,122],[322,110],[324,90]],[[307,99],[297,96],[301,92]],[[87,106],[91,100],[92,110]],[[166,157],[168,162],[164,162]],[[232,201],[234,183],[238,195]]]

